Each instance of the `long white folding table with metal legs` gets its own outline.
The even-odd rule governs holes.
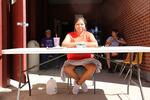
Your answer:
[[[63,48],[63,47],[53,47],[53,48],[14,48],[14,49],[4,49],[2,50],[2,55],[4,54],[20,54],[20,58],[22,54],[67,54],[67,53],[138,53],[138,52],[150,52],[150,47],[143,47],[143,46],[118,46],[118,47],[98,47],[98,48]],[[131,58],[131,57],[130,57]],[[132,58],[131,58],[132,59]],[[21,59],[20,59],[21,63]],[[28,68],[28,67],[27,67]],[[17,93],[17,100],[19,100],[20,89],[24,86],[21,86],[21,76],[22,72],[27,72],[27,79],[29,85],[29,95],[31,95],[31,86],[30,86],[30,79],[28,70],[22,70],[20,64],[20,79],[19,79],[19,87]],[[132,82],[132,61],[130,60],[130,76],[128,79],[128,86],[127,86],[127,93],[129,94],[129,85]],[[142,99],[144,100],[143,90],[142,90],[142,83],[140,79],[140,67],[138,66],[138,81],[139,81],[139,88],[141,91]]]

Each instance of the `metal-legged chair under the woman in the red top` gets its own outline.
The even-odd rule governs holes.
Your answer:
[[[85,68],[83,66],[77,66],[75,68],[75,71],[79,74],[82,74],[85,71]],[[95,72],[93,73],[92,80],[93,80],[94,94],[95,94],[96,93]],[[71,77],[68,77],[68,86],[72,86]]]

